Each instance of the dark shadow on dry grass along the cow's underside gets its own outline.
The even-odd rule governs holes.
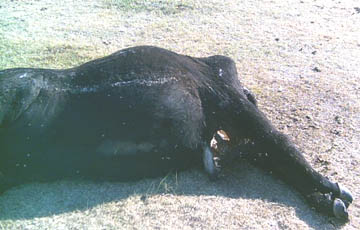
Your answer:
[[[132,195],[141,200],[162,194],[188,196],[222,196],[250,200],[265,200],[295,209],[297,217],[309,227],[317,228],[331,221],[335,227],[343,222],[313,211],[301,196],[271,175],[240,161],[223,178],[211,182],[201,170],[170,173],[166,177],[136,182],[60,181],[33,183],[13,188],[0,196],[0,221],[22,220],[59,215],[75,210],[87,210],[116,202]]]

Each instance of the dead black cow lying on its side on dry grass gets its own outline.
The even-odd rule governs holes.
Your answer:
[[[215,156],[224,143],[232,150]],[[216,178],[231,152],[319,211],[348,218],[350,192],[271,125],[228,57],[142,46],[71,69],[0,71],[0,191],[71,177],[140,179],[199,163]]]

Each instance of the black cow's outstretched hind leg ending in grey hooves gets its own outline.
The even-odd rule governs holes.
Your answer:
[[[230,138],[243,137],[253,144],[247,158],[256,166],[283,179],[321,212],[347,219],[350,192],[316,172],[293,143],[248,100],[226,108]]]

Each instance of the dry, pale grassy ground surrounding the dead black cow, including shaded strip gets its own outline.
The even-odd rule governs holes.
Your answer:
[[[260,108],[355,201],[317,214],[246,162],[132,183],[28,184],[0,197],[0,229],[360,229],[357,0],[2,0],[0,69],[65,68],[135,45],[223,54]]]

